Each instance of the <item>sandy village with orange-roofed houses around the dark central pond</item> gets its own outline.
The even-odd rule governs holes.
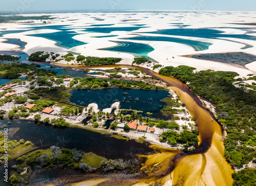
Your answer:
[[[112,69],[113,71],[114,69]],[[137,75],[137,74],[136,74]],[[143,74],[142,74],[143,75]],[[99,77],[96,76],[96,77]],[[128,77],[130,79],[136,77]],[[72,77],[70,78],[62,78],[56,79],[53,83],[54,86],[64,85],[65,87],[71,87],[71,82],[74,82]],[[166,88],[166,85],[160,81],[152,81],[150,79],[141,79],[144,82],[153,83],[153,85],[162,86]],[[57,83],[57,81],[59,81]],[[33,84],[34,88],[39,87],[47,87],[39,86],[37,83]],[[49,123],[56,124],[56,120],[65,121],[69,125],[72,126],[80,126],[80,127],[91,127],[93,130],[106,131],[108,133],[112,133],[114,136],[118,135],[122,138],[126,139],[136,139],[138,141],[148,141],[151,143],[155,143],[164,147],[170,147],[168,142],[163,142],[162,133],[168,131],[168,128],[159,128],[155,126],[157,122],[150,122],[150,118],[140,119],[140,121],[136,118],[129,118],[129,115],[124,114],[120,109],[120,102],[114,102],[110,108],[104,108],[102,111],[98,109],[98,105],[96,103],[91,103],[87,107],[83,105],[75,105],[72,103],[62,103],[57,101],[51,101],[48,99],[39,99],[33,100],[28,97],[28,92],[31,90],[31,82],[30,81],[19,81],[19,83],[9,83],[2,86],[0,90],[0,94],[2,94],[1,99],[5,99],[9,101],[5,101],[5,103],[0,106],[0,110],[4,110],[5,118],[10,118],[10,112],[16,112],[14,114],[14,118],[16,119],[26,119],[26,120],[34,120],[37,123]],[[6,92],[6,93],[4,93]],[[4,94],[3,94],[4,93]],[[172,99],[177,100],[177,95],[173,90],[169,90],[170,96]],[[27,97],[24,102],[15,101],[18,98]],[[14,99],[12,99],[14,98]],[[181,103],[180,103],[181,104]],[[24,108],[26,110],[24,110]],[[176,114],[175,123],[179,126],[177,129],[172,129],[177,133],[181,133],[184,129],[193,130],[195,129],[195,124],[191,120],[192,117],[189,112],[183,106],[178,106],[177,110],[182,110]],[[112,113],[112,110],[114,112]],[[122,112],[122,114],[121,114]],[[9,113],[9,116],[8,116]],[[18,115],[18,116],[17,116]],[[138,115],[138,114],[137,114]],[[90,119],[86,125],[84,125],[83,121],[87,118],[95,118],[94,120]],[[122,118],[122,119],[121,119]],[[105,129],[104,124],[106,121],[113,121],[111,127],[109,129]],[[192,121],[189,123],[189,121]],[[48,122],[50,121],[50,122]],[[95,124],[97,123],[97,124]],[[150,126],[148,125],[150,123]],[[181,144],[172,146],[172,148],[182,148]]]

